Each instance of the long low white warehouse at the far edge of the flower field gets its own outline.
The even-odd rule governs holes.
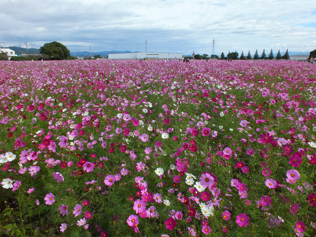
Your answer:
[[[109,53],[109,59],[182,59],[182,53]]]

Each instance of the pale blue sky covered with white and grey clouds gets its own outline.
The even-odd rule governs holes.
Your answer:
[[[0,46],[225,55],[316,48],[315,0],[1,0]],[[6,42],[6,43],[5,43]]]

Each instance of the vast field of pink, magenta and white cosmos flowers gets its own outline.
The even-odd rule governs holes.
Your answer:
[[[315,65],[89,60],[0,69],[1,233],[316,233]]]

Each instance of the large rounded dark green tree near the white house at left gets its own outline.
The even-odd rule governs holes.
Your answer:
[[[70,57],[70,51],[67,47],[56,41],[46,43],[40,47],[40,54],[46,54],[51,59],[55,58],[55,60],[67,59]]]

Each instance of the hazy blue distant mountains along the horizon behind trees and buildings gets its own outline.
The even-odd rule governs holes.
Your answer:
[[[16,54],[24,54],[24,53],[27,53],[26,52],[26,48],[21,48],[21,47],[2,47],[0,46],[0,48],[9,48],[9,49],[12,49]],[[29,48],[28,49],[28,53],[29,54],[39,54],[40,53],[40,50],[39,49],[35,49],[35,48]],[[100,55],[102,57],[107,57],[109,55],[109,53],[138,53],[138,51],[136,52],[131,52],[131,51],[115,51],[115,50],[112,50],[112,51],[102,51],[102,52],[93,52],[91,53],[92,56],[94,55]],[[270,52],[265,52],[266,56],[269,55]],[[281,55],[284,55],[285,52],[280,52]],[[79,54],[81,57],[85,57],[85,56],[90,56],[90,52],[88,51],[76,51],[76,57],[79,57]],[[239,55],[241,54],[241,52],[239,52]],[[261,53],[258,52],[259,56],[261,56]],[[221,54],[218,54],[218,56],[220,56]],[[244,55],[247,56],[247,52],[244,52]],[[276,52],[273,52],[273,55],[274,57],[276,56]],[[309,55],[309,52],[289,52],[289,55]],[[75,53],[74,52],[70,52],[70,56],[75,56]],[[183,56],[191,56],[191,55],[183,55]],[[210,55],[209,55],[210,56]],[[225,55],[226,56],[226,55]],[[251,55],[253,57],[253,54]]]

